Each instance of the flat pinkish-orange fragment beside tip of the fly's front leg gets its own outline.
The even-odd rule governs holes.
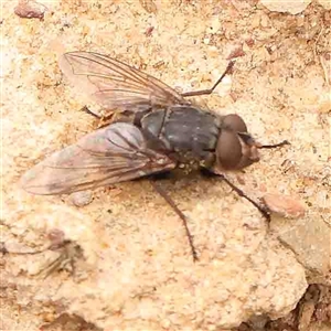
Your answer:
[[[299,218],[305,215],[302,203],[289,195],[268,193],[263,200],[270,212],[282,217]]]

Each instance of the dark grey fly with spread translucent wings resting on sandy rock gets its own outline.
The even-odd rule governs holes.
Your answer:
[[[125,116],[36,164],[23,175],[23,189],[33,194],[63,194],[175,168],[184,172],[207,169],[221,175],[268,217],[264,207],[223,173],[257,162],[258,149],[288,142],[263,146],[248,134],[238,115],[218,116],[200,109],[185,98],[211,94],[233,64],[229,62],[213,88],[179,94],[157,78],[106,55],[64,54],[60,58],[61,70],[104,107],[104,116],[110,116],[116,109]],[[185,216],[154,181],[153,185],[182,218],[196,259]]]

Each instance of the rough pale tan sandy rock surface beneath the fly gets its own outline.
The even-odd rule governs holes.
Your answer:
[[[282,317],[306,290],[298,252],[278,241],[281,228],[268,229],[258,211],[217,179],[162,182],[190,220],[195,264],[181,221],[148,181],[97,190],[83,207],[68,196],[20,189],[26,169],[95,126],[62,79],[58,54],[107,53],[182,90],[210,87],[227,58],[239,56],[234,75],[203,103],[239,114],[263,142],[291,146],[264,151],[258,164],[232,178],[255,199],[298,196],[307,215],[292,226],[307,224],[313,236],[307,246],[320,233],[309,224],[322,220],[328,235],[330,12],[313,3],[293,17],[257,1],[153,1],[157,10],[142,2],[153,10],[135,0],[45,1],[43,21],[19,18],[14,4],[2,3],[2,241],[11,252],[33,252],[58,229],[84,254],[73,275],[47,277],[41,270],[60,250],[4,255],[3,330],[41,328],[63,314],[107,330],[225,330],[252,316]],[[330,261],[323,256],[321,275]]]

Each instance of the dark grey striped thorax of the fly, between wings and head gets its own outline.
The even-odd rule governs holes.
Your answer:
[[[146,115],[141,127],[161,139],[169,150],[203,156],[204,151],[215,150],[220,119],[194,107],[174,106]]]

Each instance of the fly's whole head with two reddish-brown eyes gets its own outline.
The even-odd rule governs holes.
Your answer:
[[[242,117],[235,114],[223,118],[216,146],[218,170],[241,170],[259,161],[259,143],[247,132]]]

